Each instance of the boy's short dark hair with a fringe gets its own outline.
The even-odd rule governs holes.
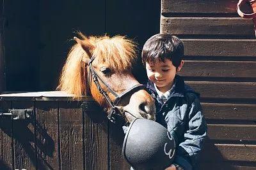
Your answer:
[[[150,37],[142,49],[142,62],[154,64],[156,60],[169,59],[173,66],[179,67],[184,55],[183,42],[171,34],[156,34]]]

